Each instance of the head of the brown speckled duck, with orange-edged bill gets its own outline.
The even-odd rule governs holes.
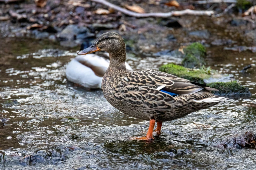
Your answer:
[[[77,54],[86,55],[100,50],[107,51],[112,58],[120,57],[123,54],[126,55],[125,41],[119,34],[107,32],[100,35],[90,47],[79,51]]]

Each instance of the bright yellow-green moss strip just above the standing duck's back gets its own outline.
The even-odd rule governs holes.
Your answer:
[[[181,78],[185,78],[197,83],[204,84],[205,78],[210,78],[210,74],[204,69],[189,69],[176,64],[166,64],[159,68],[160,71],[169,73]]]

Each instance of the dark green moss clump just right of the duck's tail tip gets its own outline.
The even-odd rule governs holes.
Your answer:
[[[215,82],[208,83],[207,86],[218,89],[219,91],[213,92],[216,95],[241,95],[241,94],[250,94],[250,91],[247,87],[242,86],[237,81],[232,82]]]

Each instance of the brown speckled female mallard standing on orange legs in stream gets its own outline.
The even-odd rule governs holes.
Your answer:
[[[125,114],[150,120],[146,137],[137,139],[153,139],[155,122],[155,131],[160,134],[163,121],[181,118],[226,99],[210,92],[217,89],[171,74],[156,70],[127,72],[125,42],[115,32],[102,34],[92,46],[78,54],[99,50],[107,51],[110,56],[110,65],[101,85],[106,99]]]

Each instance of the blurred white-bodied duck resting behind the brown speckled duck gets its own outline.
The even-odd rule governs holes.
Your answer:
[[[81,49],[85,49],[84,45]],[[78,55],[66,68],[66,77],[69,81],[90,89],[101,89],[103,75],[109,67],[108,53],[102,56],[96,54]],[[132,68],[125,62],[127,71]]]

